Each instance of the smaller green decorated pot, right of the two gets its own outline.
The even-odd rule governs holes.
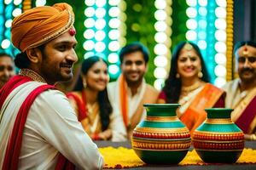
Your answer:
[[[197,154],[205,162],[236,162],[244,148],[244,133],[230,119],[232,109],[206,109],[207,120],[193,133]]]

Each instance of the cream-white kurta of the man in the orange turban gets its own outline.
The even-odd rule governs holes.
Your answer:
[[[20,85],[3,104],[0,112],[0,167],[20,105],[41,84],[26,82]],[[28,112],[19,169],[54,169],[59,152],[79,169],[101,169],[103,166],[96,144],[84,133],[65,94],[47,90],[38,95]]]

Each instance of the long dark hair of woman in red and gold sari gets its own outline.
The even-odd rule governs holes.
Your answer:
[[[78,81],[76,82],[76,85],[73,89],[73,91],[82,91],[84,86],[83,86],[83,80],[82,80],[82,74],[86,75],[87,72],[89,71],[89,69],[92,67],[92,65],[94,65],[96,62],[103,60],[104,63],[106,65],[108,65],[108,63],[98,57],[98,56],[92,56],[89,57],[88,59],[84,59],[82,66],[81,66],[81,70],[80,70],[80,76],[78,78]],[[102,130],[106,130],[108,129],[108,125],[110,123],[110,114],[113,111],[112,106],[110,105],[109,99],[108,99],[108,92],[107,92],[107,87],[102,90],[101,92],[99,92],[98,94],[98,103],[100,106],[100,119],[102,122]]]

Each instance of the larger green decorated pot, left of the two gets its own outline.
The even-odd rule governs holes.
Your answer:
[[[177,104],[146,104],[145,120],[132,133],[131,145],[148,164],[177,164],[191,144],[189,129],[177,118]]]

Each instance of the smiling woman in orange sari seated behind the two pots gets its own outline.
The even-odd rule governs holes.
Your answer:
[[[208,83],[209,75],[195,43],[180,42],[172,53],[169,77],[157,103],[178,103],[177,116],[192,134],[207,118],[206,108],[224,106],[224,91]]]

